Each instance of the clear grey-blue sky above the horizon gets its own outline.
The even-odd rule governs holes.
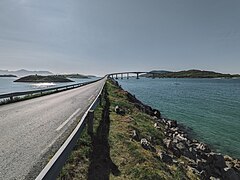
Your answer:
[[[0,69],[240,73],[239,0],[1,0]]]

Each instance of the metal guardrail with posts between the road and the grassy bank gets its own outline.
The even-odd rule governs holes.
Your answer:
[[[105,76],[106,77],[106,76]],[[104,77],[104,78],[105,78]],[[103,78],[101,78],[103,79]],[[99,81],[99,80],[97,80]],[[96,82],[96,81],[95,81]],[[91,82],[92,83],[92,82]],[[89,84],[89,83],[88,83]],[[104,85],[101,88],[99,94],[93,101],[93,103],[89,106],[87,111],[83,114],[80,122],[64,142],[64,144],[60,147],[60,149],[56,152],[56,154],[52,157],[52,159],[48,162],[48,164],[44,167],[44,169],[40,172],[35,180],[49,180],[49,179],[56,179],[65,164],[68,156],[70,155],[72,149],[74,148],[75,144],[77,143],[82,130],[84,129],[86,123],[88,123],[89,128],[93,127],[93,116],[94,116],[94,109],[96,108],[99,100],[101,98],[101,94],[103,91]],[[90,130],[91,131],[91,130]]]

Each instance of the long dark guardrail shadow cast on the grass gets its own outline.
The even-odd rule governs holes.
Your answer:
[[[104,92],[105,107],[102,111],[102,120],[97,128],[96,134],[92,135],[92,153],[90,155],[90,166],[88,169],[89,180],[107,180],[110,173],[114,176],[120,175],[118,166],[110,157],[110,146],[108,143],[110,117],[110,102],[107,92]]]

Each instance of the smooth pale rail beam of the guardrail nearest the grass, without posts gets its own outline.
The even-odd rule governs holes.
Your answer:
[[[104,83],[105,85],[105,83]],[[68,144],[71,142],[75,134],[78,132],[79,128],[83,124],[85,118],[87,117],[88,112],[91,110],[92,106],[97,101],[98,97],[102,93],[103,87],[101,88],[101,91],[98,93],[96,99],[93,101],[93,103],[89,106],[88,110],[83,114],[80,122],[76,126],[76,128],[73,130],[73,132],[70,134],[70,136],[67,138],[67,140],[63,143],[63,145],[60,147],[60,149],[56,152],[56,154],[52,157],[52,159],[47,163],[47,165],[44,167],[44,169],[40,172],[40,174],[36,177],[35,180],[42,180],[47,172],[51,169],[51,167],[54,165],[54,163],[57,161],[57,159],[61,156],[61,154],[64,152],[65,148],[68,146]]]

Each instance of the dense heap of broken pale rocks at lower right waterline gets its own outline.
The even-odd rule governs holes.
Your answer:
[[[240,179],[239,160],[215,153],[204,143],[192,140],[174,120],[157,119],[154,127],[165,127],[163,144],[176,158],[184,157],[186,165],[202,179]]]

